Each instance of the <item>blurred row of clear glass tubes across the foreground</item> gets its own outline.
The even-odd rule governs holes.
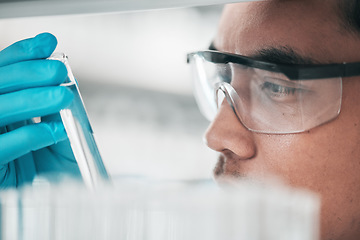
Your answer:
[[[63,181],[2,192],[0,239],[320,239],[320,198],[306,190],[271,179],[221,188],[144,180],[114,179],[96,191]]]

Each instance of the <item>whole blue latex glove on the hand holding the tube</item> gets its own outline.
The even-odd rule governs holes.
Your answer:
[[[67,70],[60,61],[45,60],[56,45],[53,35],[43,33],[0,52],[0,188],[21,186],[38,174],[80,176],[59,116],[73,99],[59,86]]]

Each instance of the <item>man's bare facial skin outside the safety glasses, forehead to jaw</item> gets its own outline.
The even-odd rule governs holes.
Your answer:
[[[214,45],[246,56],[289,46],[319,63],[360,61],[360,34],[349,33],[334,1],[264,1],[227,5]],[[310,131],[271,135],[247,130],[228,104],[209,126],[207,145],[220,153],[225,177],[279,176],[319,194],[321,239],[360,239],[360,77],[343,78],[340,115]]]

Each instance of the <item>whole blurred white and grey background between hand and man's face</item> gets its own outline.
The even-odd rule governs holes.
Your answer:
[[[216,154],[192,96],[186,54],[206,49],[221,5],[0,19],[0,49],[41,32],[69,56],[113,178],[211,178]]]

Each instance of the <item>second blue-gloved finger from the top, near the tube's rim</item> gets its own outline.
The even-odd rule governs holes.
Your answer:
[[[0,94],[31,87],[55,86],[67,77],[65,65],[56,60],[34,60],[0,67]]]

